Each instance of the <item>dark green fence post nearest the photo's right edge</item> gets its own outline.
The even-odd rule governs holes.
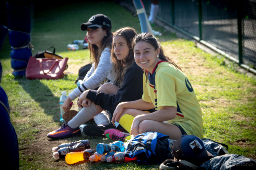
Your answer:
[[[242,5],[239,1],[236,2],[236,12],[237,12],[237,31],[238,31],[238,57],[239,65],[243,64],[243,46],[242,46]]]

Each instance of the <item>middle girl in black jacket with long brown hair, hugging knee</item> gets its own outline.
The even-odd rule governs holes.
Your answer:
[[[79,104],[82,110],[71,119],[68,124],[55,130],[58,138],[71,137],[80,134],[79,126],[103,110],[108,110],[112,116],[116,106],[120,102],[134,101],[141,98],[142,69],[135,63],[131,41],[137,33],[133,28],[125,27],[113,34],[111,60],[113,70],[116,73],[114,84],[105,83],[96,90],[86,90],[79,96]],[[104,130],[114,127],[108,125],[87,125],[83,131],[88,136],[101,136]],[[63,131],[63,135],[61,135]],[[51,132],[52,133],[52,132]]]

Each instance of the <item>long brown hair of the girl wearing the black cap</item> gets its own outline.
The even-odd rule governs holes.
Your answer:
[[[95,44],[90,44],[88,41],[88,48],[90,50],[90,61],[94,62],[94,68],[96,69],[98,66],[98,63],[100,62],[100,55],[104,48],[108,47],[111,49],[112,44],[112,38],[113,33],[111,33],[110,29],[108,28],[102,28],[103,30],[106,30],[107,36],[105,36],[100,43],[100,47],[97,47]]]

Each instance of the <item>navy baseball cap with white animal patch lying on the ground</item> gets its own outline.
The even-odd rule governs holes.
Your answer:
[[[172,145],[172,152],[176,159],[186,160],[197,166],[213,157],[205,150],[203,141],[194,135],[182,135]]]

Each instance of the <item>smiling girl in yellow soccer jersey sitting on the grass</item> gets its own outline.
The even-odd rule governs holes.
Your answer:
[[[142,99],[119,103],[112,123],[119,122],[132,135],[156,131],[175,140],[184,134],[202,138],[201,108],[180,67],[149,33],[134,37],[132,48],[136,64],[144,70]],[[152,113],[143,111],[153,108]]]

